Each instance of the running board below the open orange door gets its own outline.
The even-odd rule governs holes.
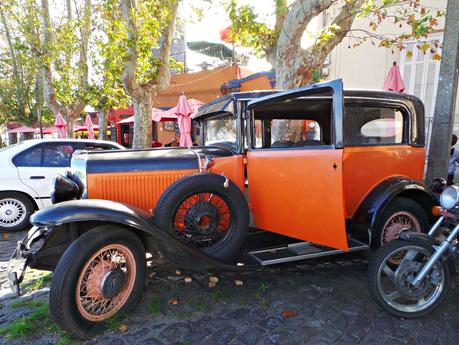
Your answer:
[[[367,244],[355,239],[348,239],[349,249],[333,249],[312,244],[310,242],[292,243],[284,247],[256,250],[249,252],[249,255],[262,266],[275,265],[283,262],[318,258],[321,256],[356,252],[367,250]]]

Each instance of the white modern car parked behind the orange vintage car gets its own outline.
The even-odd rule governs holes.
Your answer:
[[[119,150],[103,140],[35,139],[0,149],[0,232],[19,231],[30,215],[51,205],[54,176],[70,167],[76,150]]]

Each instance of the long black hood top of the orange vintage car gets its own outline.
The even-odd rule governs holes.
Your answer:
[[[75,161],[85,161],[87,174],[138,172],[152,170],[198,169],[197,154],[202,159],[231,156],[219,147],[164,148],[123,151],[85,151],[76,153]],[[74,164],[72,164],[73,166]]]

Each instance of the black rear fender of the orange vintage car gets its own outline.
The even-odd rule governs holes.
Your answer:
[[[358,207],[350,224],[353,236],[370,244],[371,234],[379,217],[396,197],[406,197],[418,202],[429,218],[432,217],[432,207],[438,205],[435,194],[424,183],[402,176],[391,177],[377,185]]]

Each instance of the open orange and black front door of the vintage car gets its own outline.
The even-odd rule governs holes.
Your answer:
[[[341,80],[251,101],[248,112],[256,227],[346,250]]]

